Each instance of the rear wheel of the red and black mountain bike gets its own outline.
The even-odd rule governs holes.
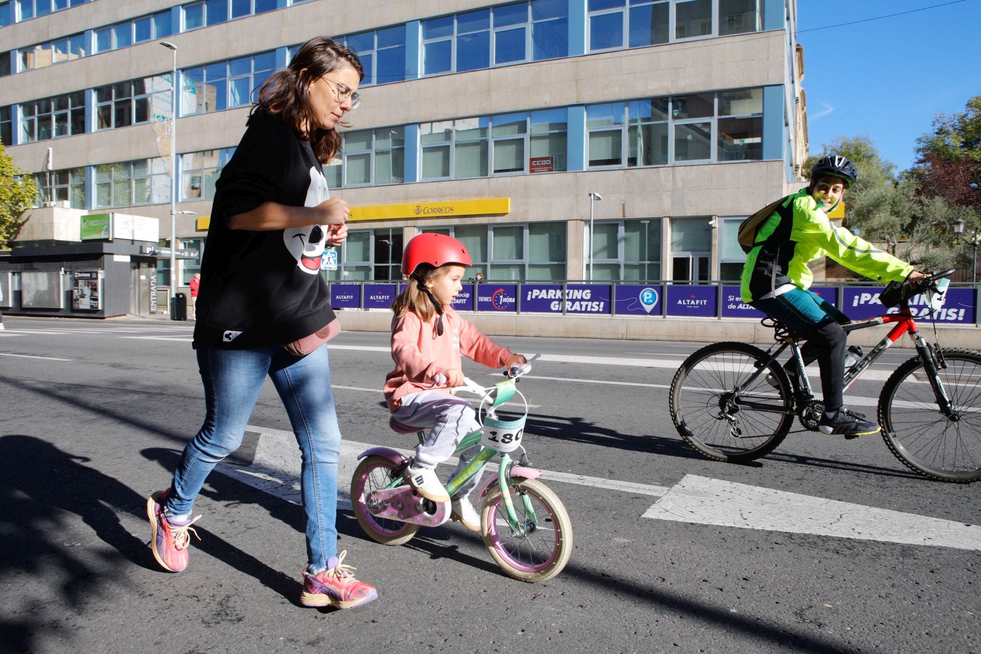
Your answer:
[[[734,389],[769,358],[747,343],[707,345],[682,363],[671,381],[671,419],[681,437],[715,461],[742,463],[769,454],[794,423],[791,384],[774,362],[739,393]],[[767,377],[772,380],[771,385]]]

